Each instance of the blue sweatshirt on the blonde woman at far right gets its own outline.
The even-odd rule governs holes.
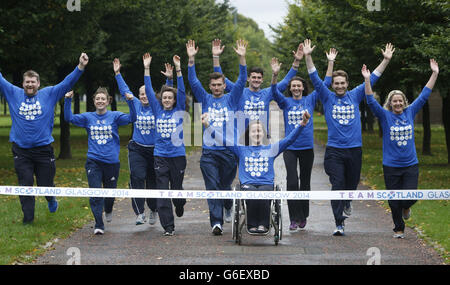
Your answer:
[[[414,143],[414,117],[430,94],[431,89],[424,87],[419,97],[401,114],[395,114],[381,107],[373,95],[367,96],[367,104],[380,120],[383,131],[383,165],[407,167],[419,163]]]

